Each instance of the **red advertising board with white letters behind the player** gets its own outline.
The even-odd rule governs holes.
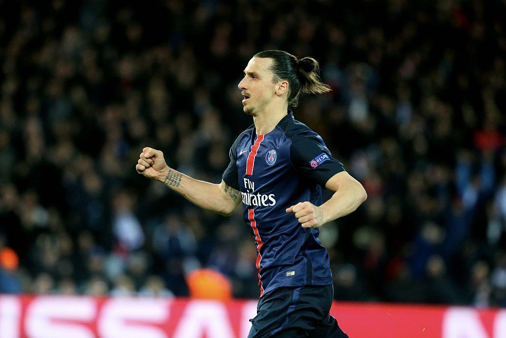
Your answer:
[[[1,338],[239,338],[257,301],[0,296]],[[506,310],[334,303],[351,338],[505,338]]]

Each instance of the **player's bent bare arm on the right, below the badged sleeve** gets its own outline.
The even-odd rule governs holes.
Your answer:
[[[367,199],[362,184],[346,171],[330,177],[325,187],[334,191],[334,194],[319,207],[311,202],[301,202],[286,209],[286,212],[295,214],[303,228],[319,228],[327,222],[346,216]]]

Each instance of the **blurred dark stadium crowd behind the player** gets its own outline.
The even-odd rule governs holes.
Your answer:
[[[332,91],[296,119],[368,200],[326,224],[335,298],[506,306],[504,1],[0,1],[0,291],[258,297],[240,211],[135,171],[142,148],[219,183],[266,49]]]

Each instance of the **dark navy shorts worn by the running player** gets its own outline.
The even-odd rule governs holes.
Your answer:
[[[279,287],[260,298],[248,338],[348,338],[330,316],[332,285]]]

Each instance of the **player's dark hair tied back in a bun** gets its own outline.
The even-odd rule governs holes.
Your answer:
[[[274,82],[288,81],[288,104],[296,107],[301,94],[321,94],[330,87],[321,82],[318,61],[311,57],[297,58],[290,53],[278,50],[263,51],[255,57],[272,59],[271,70]]]

